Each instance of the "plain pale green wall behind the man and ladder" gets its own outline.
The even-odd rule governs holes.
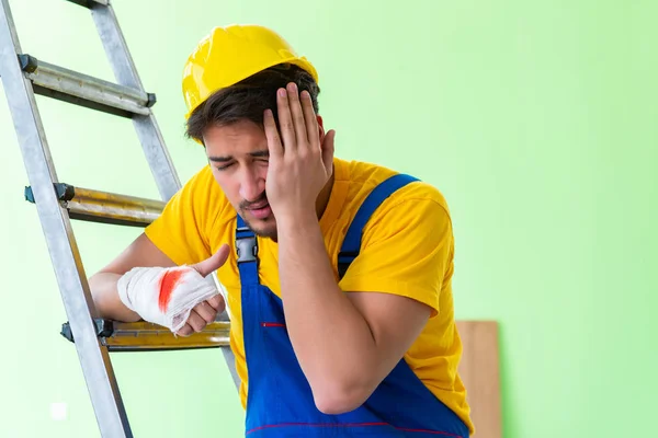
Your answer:
[[[337,154],[445,194],[456,314],[500,322],[506,438],[656,434],[657,2],[113,3],[183,181],[204,159],[182,135],[182,65],[212,26],[254,22],[316,64]],[[10,4],[23,51],[113,79],[87,10]],[[38,103],[60,181],[157,197],[129,122]],[[0,146],[0,436],[94,437],[3,93]],[[138,232],[75,231],[89,274]],[[136,437],[240,435],[218,350],[113,359]]]

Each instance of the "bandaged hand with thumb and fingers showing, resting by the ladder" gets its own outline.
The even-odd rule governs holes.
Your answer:
[[[228,252],[223,245],[195,265],[135,267],[117,283],[120,299],[144,321],[168,327],[177,335],[200,332],[225,309],[211,274],[226,262]]]

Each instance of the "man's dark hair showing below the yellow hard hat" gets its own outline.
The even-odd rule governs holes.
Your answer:
[[[262,70],[249,78],[213,93],[190,115],[185,135],[203,142],[203,134],[211,126],[225,126],[249,119],[263,125],[263,113],[272,110],[279,125],[276,111],[276,90],[295,82],[299,93],[310,93],[313,107],[318,114],[318,94],[320,88],[304,69],[282,64]]]

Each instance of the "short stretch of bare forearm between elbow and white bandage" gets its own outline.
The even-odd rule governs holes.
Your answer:
[[[97,318],[122,322],[139,321],[140,316],[128,309],[118,298],[116,284],[120,274],[98,273],[89,279],[89,287],[97,308]]]

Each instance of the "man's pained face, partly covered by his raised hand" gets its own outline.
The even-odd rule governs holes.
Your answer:
[[[250,120],[211,127],[203,137],[215,181],[249,228],[276,238],[276,222],[265,196],[268,139]]]

